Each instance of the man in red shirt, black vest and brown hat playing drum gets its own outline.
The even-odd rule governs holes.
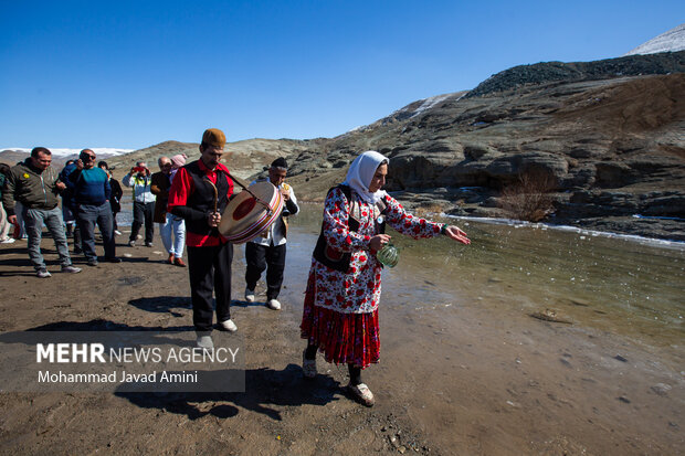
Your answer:
[[[221,214],[233,194],[231,173],[219,162],[225,142],[220,129],[204,131],[201,157],[178,170],[167,206],[168,212],[186,220],[192,322],[197,346],[205,349],[213,348],[210,336],[214,314],[212,291],[217,296],[217,328],[238,330],[230,307],[233,245],[218,231]]]

